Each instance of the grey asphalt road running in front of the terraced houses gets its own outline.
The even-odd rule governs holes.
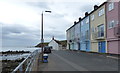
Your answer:
[[[59,50],[49,54],[39,71],[118,71],[118,59],[96,53]]]

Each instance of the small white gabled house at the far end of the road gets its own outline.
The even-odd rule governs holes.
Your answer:
[[[53,50],[61,50],[62,49],[61,43],[59,41],[55,40],[54,37],[49,42],[48,46],[52,46]]]

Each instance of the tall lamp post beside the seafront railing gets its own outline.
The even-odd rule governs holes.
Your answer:
[[[45,11],[51,13],[51,11]],[[43,38],[43,12],[41,14],[41,52],[42,52],[42,62],[43,62],[43,48],[44,48],[44,38]]]

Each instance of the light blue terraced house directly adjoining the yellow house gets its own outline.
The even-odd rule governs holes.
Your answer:
[[[90,20],[87,12],[81,20],[80,33],[80,50],[90,51]]]

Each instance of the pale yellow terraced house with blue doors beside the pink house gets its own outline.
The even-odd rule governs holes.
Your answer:
[[[90,13],[91,51],[106,53],[106,2]]]

